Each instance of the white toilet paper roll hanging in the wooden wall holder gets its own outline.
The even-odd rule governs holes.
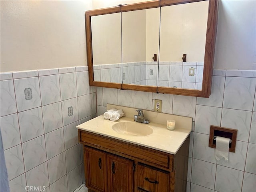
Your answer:
[[[229,148],[229,138],[225,137],[216,137],[216,148],[215,148],[215,158],[220,160],[224,158],[228,160],[228,148]]]

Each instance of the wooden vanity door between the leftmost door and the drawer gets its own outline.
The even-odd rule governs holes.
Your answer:
[[[134,182],[133,161],[108,154],[108,191],[132,192]]]

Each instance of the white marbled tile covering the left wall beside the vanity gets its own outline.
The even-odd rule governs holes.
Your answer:
[[[88,67],[1,73],[0,88],[10,190],[74,191],[84,182],[76,126],[96,116]]]

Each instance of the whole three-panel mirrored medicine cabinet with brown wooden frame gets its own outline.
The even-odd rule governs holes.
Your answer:
[[[90,85],[209,97],[217,13],[214,0],[154,0],[86,11]],[[153,62],[154,54],[159,61]]]

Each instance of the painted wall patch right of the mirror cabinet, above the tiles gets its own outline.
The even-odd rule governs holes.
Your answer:
[[[222,0],[215,69],[256,70],[256,1]]]

